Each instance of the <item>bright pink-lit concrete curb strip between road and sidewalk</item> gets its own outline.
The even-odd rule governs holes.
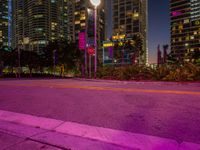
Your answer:
[[[0,120],[33,127],[40,127],[50,131],[54,128],[54,131],[58,133],[79,136],[90,140],[97,140],[139,150],[177,150],[179,146],[179,144],[173,139],[144,134],[135,134],[131,132],[95,127],[75,122],[63,123],[61,120],[37,117],[4,110],[0,110]],[[49,122],[51,124],[50,126]]]

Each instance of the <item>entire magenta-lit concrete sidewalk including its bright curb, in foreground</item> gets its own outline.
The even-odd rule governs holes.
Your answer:
[[[200,150],[194,143],[2,110],[0,145],[2,150]]]

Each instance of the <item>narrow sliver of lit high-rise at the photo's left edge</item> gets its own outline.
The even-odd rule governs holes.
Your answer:
[[[11,1],[0,1],[0,48],[11,44]]]

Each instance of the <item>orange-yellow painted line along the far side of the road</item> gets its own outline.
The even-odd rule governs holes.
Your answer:
[[[6,85],[6,84],[5,84]],[[4,85],[4,86],[5,86]],[[177,94],[177,95],[198,95],[200,92],[192,91],[178,91],[178,90],[155,90],[155,89],[136,89],[136,88],[113,88],[113,87],[101,87],[101,86],[82,86],[82,85],[64,85],[64,84],[18,84],[11,86],[21,87],[43,87],[43,88],[68,88],[68,89],[83,89],[83,90],[96,90],[96,91],[113,91],[113,92],[131,92],[131,93],[157,93],[157,94]]]

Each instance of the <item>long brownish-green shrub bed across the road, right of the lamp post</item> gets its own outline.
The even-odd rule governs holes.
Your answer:
[[[197,81],[200,80],[200,66],[192,63],[162,65],[156,69],[139,65],[104,66],[99,68],[98,77],[116,80]]]

